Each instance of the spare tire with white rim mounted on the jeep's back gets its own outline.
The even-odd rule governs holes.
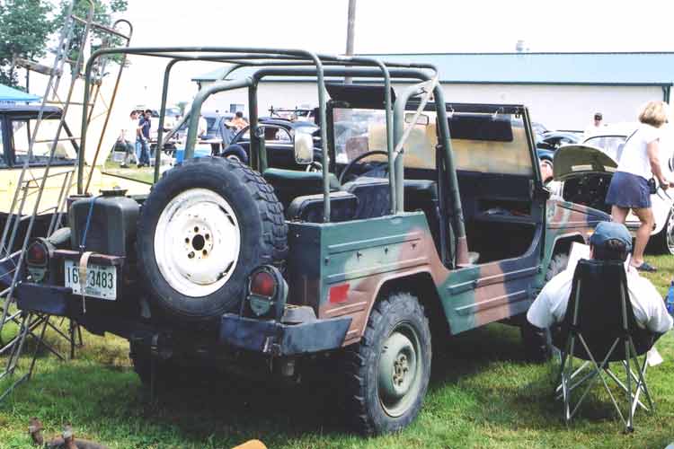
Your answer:
[[[137,259],[150,304],[174,322],[236,310],[247,277],[288,253],[272,187],[244,163],[201,157],[166,172],[141,208]]]

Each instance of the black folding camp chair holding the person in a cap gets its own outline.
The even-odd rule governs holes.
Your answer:
[[[557,399],[563,400],[566,423],[571,422],[592,385],[600,380],[626,431],[633,431],[635,409],[654,409],[645,380],[646,353],[652,348],[654,337],[652,332],[636,324],[623,264],[606,260],[579,261],[564,320],[553,337],[554,346],[562,351],[561,384],[555,394]],[[575,371],[574,357],[584,361]],[[642,362],[639,357],[643,357]],[[622,365],[625,381],[620,380],[617,371],[610,370],[611,363]],[[626,419],[607,381],[613,381],[626,393],[629,403]],[[583,385],[580,399],[572,404],[572,393]],[[639,400],[642,392],[648,407]]]

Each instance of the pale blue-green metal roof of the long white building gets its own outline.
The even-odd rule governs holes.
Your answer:
[[[422,62],[438,67],[447,84],[672,85],[674,52],[634,53],[406,53],[366,54],[390,62]],[[216,81],[226,68],[192,81]],[[237,70],[232,77],[253,73]],[[273,81],[301,81],[299,77]],[[306,78],[305,78],[306,79]]]

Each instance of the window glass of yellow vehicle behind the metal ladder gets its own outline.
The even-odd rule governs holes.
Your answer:
[[[42,119],[38,136],[36,136],[35,143],[32,147],[32,156],[29,163],[40,165],[49,161],[49,152],[51,150],[52,141],[57,134],[59,119]],[[14,148],[14,164],[22,164],[28,157],[29,142],[31,141],[31,133],[35,129],[36,119],[13,119],[12,120],[12,143]],[[74,162],[76,158],[75,147],[73,142],[65,140],[67,137],[66,131],[61,130],[61,140],[57,143],[54,152],[54,160],[56,162]]]

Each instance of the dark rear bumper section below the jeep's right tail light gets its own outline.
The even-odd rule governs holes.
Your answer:
[[[283,324],[225,313],[220,321],[220,342],[234,348],[274,356],[296,356],[341,348],[350,317]]]

